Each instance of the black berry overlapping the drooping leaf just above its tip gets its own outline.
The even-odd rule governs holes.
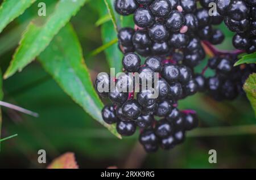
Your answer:
[[[108,124],[113,124],[118,121],[118,118],[115,116],[114,105],[106,105],[102,109],[102,118]]]

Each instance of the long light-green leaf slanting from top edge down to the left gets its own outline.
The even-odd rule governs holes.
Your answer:
[[[55,12],[49,16],[42,27],[33,23],[28,25],[4,78],[9,78],[18,70],[21,71],[42,53],[52,38],[69,22],[85,2],[86,0],[61,0],[57,3]]]

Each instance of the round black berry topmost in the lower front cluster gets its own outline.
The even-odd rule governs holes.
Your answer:
[[[127,72],[135,72],[141,66],[141,58],[135,53],[127,53],[123,57],[123,67]]]

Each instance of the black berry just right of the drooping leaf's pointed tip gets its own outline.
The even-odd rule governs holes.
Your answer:
[[[136,131],[136,125],[133,121],[119,121],[117,122],[117,132],[122,136],[131,136]]]

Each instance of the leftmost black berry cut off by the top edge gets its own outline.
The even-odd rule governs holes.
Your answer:
[[[114,6],[118,14],[127,16],[134,13],[138,8],[138,3],[136,0],[115,0]]]

